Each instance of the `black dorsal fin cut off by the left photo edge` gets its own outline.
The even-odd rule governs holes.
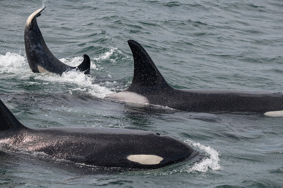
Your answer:
[[[12,128],[25,128],[0,100],[0,132]]]

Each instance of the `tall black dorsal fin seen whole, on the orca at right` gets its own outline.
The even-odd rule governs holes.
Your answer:
[[[128,44],[134,57],[134,78],[127,90],[171,87],[158,71],[145,49],[134,40],[128,40]]]

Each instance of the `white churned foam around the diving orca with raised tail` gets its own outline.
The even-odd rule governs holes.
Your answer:
[[[83,57],[62,58],[60,60],[68,65],[77,66],[82,63]],[[93,62],[91,62],[91,69],[98,70]],[[103,98],[107,94],[115,93],[108,88],[93,84],[94,78],[75,70],[63,73],[62,76],[49,72],[33,73],[29,68],[25,56],[17,53],[7,52],[5,55],[0,55],[0,73],[14,73],[18,76],[17,78],[23,80],[28,80],[30,77],[34,76],[35,79],[38,80],[36,82],[29,82],[29,84],[65,83],[67,87],[69,87],[67,89],[68,91],[85,92],[99,98]]]

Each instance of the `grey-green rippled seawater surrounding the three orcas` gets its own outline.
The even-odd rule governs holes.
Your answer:
[[[23,32],[37,21],[52,53],[91,74],[32,73]],[[0,98],[27,127],[103,126],[155,131],[205,156],[112,172],[1,145],[0,187],[283,187],[283,119],[187,113],[103,100],[132,80],[127,40],[141,43],[175,88],[283,91],[282,1],[0,2]]]

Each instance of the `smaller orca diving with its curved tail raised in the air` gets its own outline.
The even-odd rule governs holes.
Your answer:
[[[61,62],[50,52],[37,25],[37,17],[44,8],[46,6],[33,12],[25,23],[25,54],[31,70],[34,73],[52,72],[62,75],[65,71],[77,69],[89,74],[90,58],[87,54],[83,55],[83,62],[78,67],[72,67]]]

